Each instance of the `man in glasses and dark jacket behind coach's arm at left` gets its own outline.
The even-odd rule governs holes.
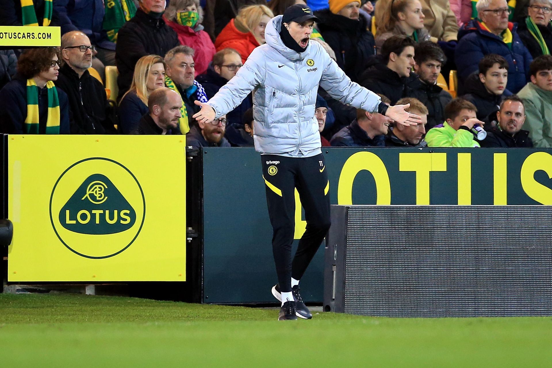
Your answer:
[[[224,86],[238,70],[243,66],[240,54],[234,49],[222,49],[215,54],[213,65],[205,74],[201,74],[197,81],[205,88],[207,98],[213,97],[219,89]],[[243,114],[253,106],[251,95],[245,98],[241,104],[226,114],[229,125],[242,126]]]

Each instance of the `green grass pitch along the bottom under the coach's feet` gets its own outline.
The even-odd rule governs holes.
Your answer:
[[[277,311],[0,294],[0,367],[552,367],[552,318],[279,322]]]

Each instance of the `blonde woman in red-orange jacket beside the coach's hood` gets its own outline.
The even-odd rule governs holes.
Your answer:
[[[252,5],[240,9],[237,17],[222,29],[215,40],[216,51],[230,48],[240,53],[242,63],[255,47],[266,43],[264,28],[274,18],[272,10],[264,5]]]

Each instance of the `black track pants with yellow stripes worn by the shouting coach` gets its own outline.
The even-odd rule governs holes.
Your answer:
[[[301,279],[330,229],[330,182],[322,154],[307,158],[263,154],[261,160],[278,283],[280,291],[289,292],[291,278]],[[307,226],[292,262],[295,188],[305,209]]]

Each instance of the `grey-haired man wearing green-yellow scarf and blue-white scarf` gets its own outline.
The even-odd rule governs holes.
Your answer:
[[[182,98],[182,117],[178,125],[181,133],[187,134],[195,123],[192,115],[200,110],[194,101],[207,102],[203,86],[194,79],[194,50],[189,46],[176,46],[165,55],[165,64],[165,86],[177,92]]]

